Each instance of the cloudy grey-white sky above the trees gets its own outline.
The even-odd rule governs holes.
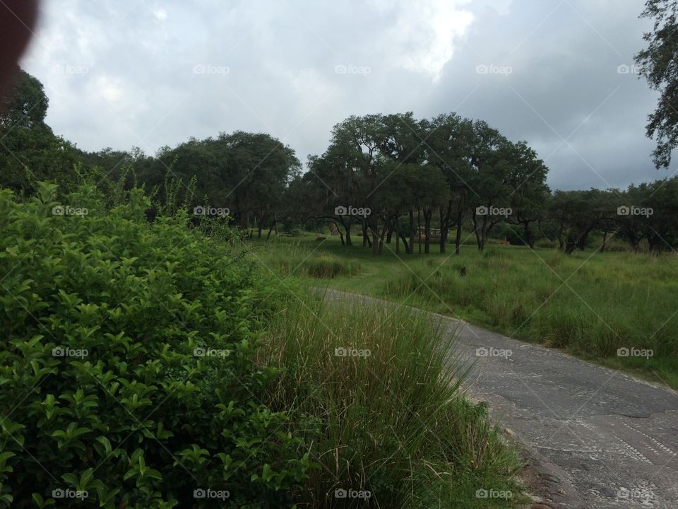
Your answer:
[[[634,74],[644,0],[46,0],[22,66],[81,148],[265,131],[322,153],[349,115],[458,112],[524,139],[555,189],[655,170]],[[621,66],[621,67],[620,67]]]

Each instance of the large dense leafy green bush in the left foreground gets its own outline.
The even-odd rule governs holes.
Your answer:
[[[149,225],[139,189],[55,192],[0,190],[0,501],[289,505],[310,462],[262,403],[256,271],[182,213]]]

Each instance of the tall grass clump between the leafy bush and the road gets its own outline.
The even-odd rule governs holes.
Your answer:
[[[487,409],[460,393],[465,365],[438,324],[306,296],[282,308],[261,361],[284,368],[270,398],[304,416],[297,433],[320,465],[298,493],[299,508],[513,507],[475,497],[482,488],[517,494],[511,476],[520,462]],[[335,496],[350,489],[371,496]]]

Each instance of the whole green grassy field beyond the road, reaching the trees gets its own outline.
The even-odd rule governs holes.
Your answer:
[[[385,245],[374,257],[360,245],[316,238],[249,242],[252,256],[283,285],[302,279],[407,303],[678,387],[678,259],[672,255],[589,250],[566,256],[503,245],[480,253],[464,245],[455,256],[434,245],[425,256],[396,254],[395,245]],[[632,354],[618,356],[618,349]]]

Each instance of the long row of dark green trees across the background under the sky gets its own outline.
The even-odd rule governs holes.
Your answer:
[[[555,191],[548,168],[525,141],[513,142],[486,122],[450,113],[416,119],[412,113],[349,117],[335,125],[327,150],[309,156],[268,134],[236,131],[191,138],[155,156],[138,148],[87,153],[54,136],[44,124],[47,98],[37,79],[22,73],[4,99],[0,185],[32,194],[52,179],[67,189],[78,171],[143,184],[167,208],[220,213],[261,237],[273,230],[327,228],[345,245],[380,254],[446,252],[490,238],[535,247],[547,240],[566,253],[592,238],[605,250],[621,238],[636,251],[659,253],[678,242],[678,180],[628,189]],[[157,211],[150,210],[153,217]]]

